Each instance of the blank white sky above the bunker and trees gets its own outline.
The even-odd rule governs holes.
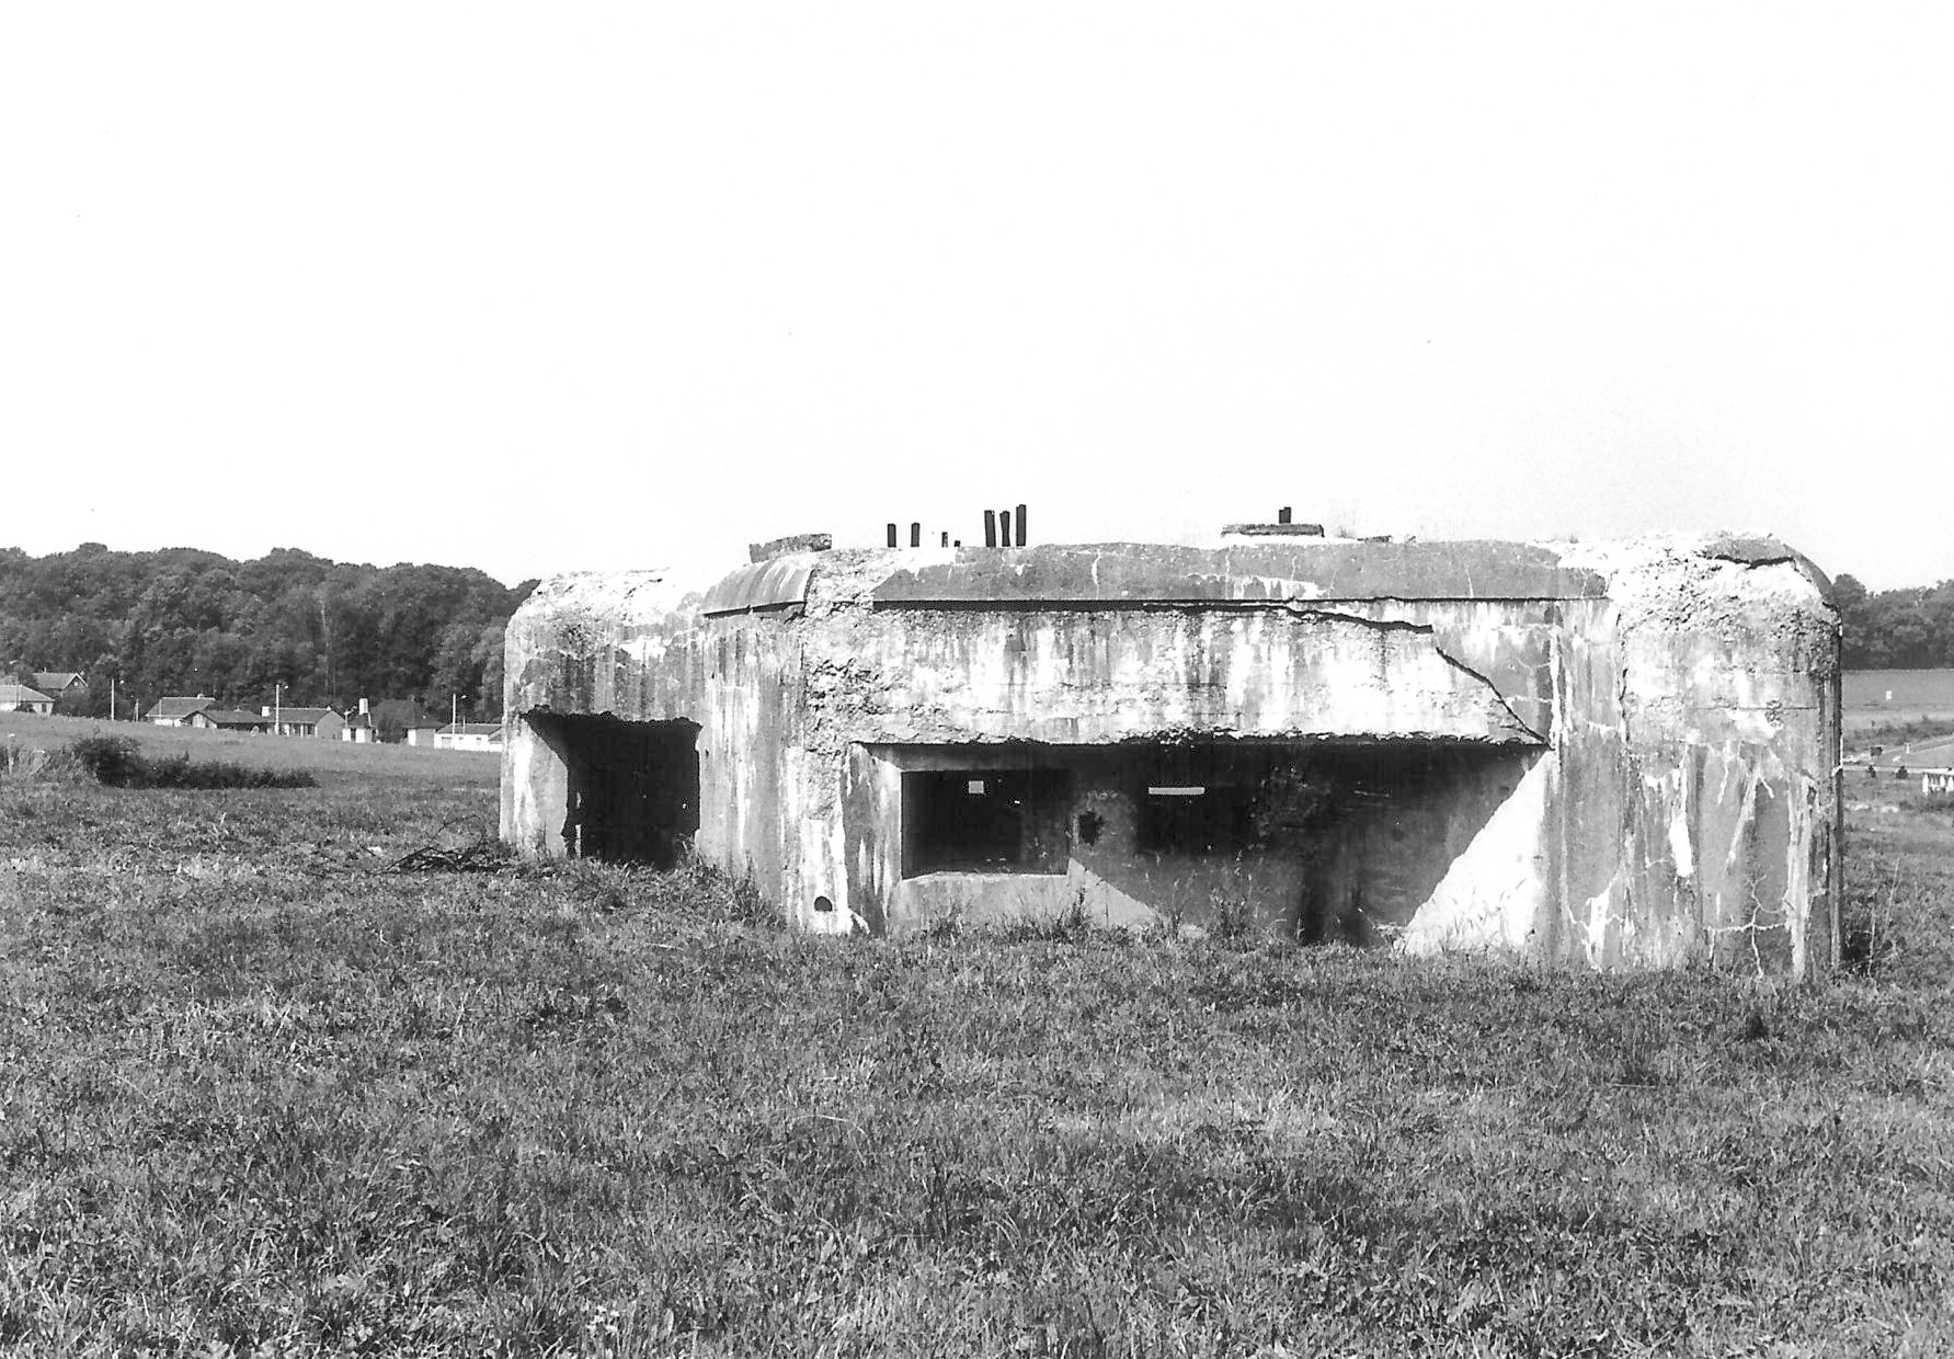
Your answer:
[[[1954,51],[1815,14],[12,4],[0,544],[713,575],[1294,504],[1929,585]]]

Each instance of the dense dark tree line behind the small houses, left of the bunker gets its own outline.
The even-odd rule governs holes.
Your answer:
[[[473,567],[371,567],[279,548],[233,561],[195,548],[29,557],[0,548],[0,677],[80,671],[107,716],[164,694],[260,708],[360,698],[412,700],[469,718],[502,716],[502,630],[535,587]],[[389,704],[393,706],[393,704]]]

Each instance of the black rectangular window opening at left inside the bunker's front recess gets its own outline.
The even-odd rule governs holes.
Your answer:
[[[1065,872],[1069,804],[1063,768],[903,774],[903,876]]]

